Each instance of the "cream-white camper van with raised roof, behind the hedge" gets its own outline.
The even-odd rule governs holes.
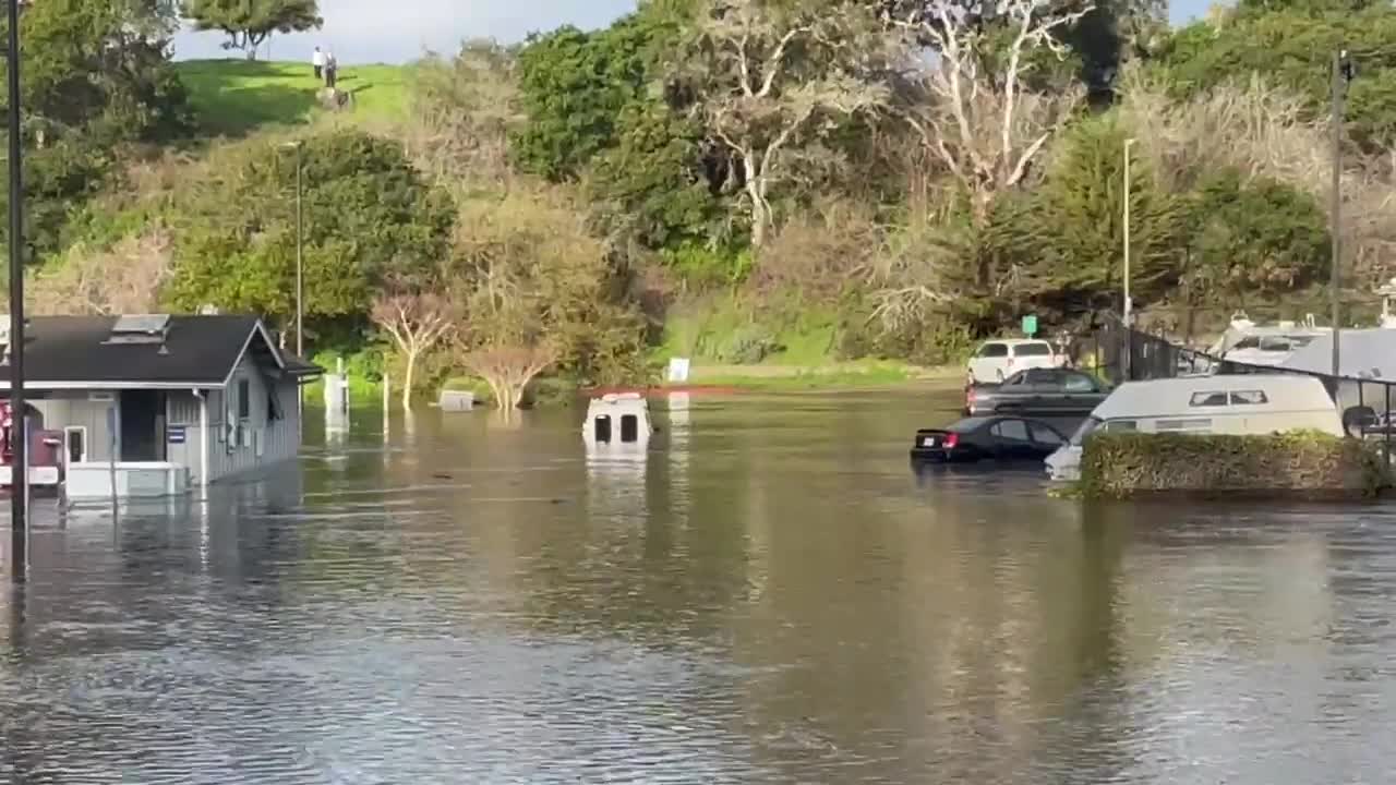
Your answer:
[[[1055,480],[1081,479],[1081,444],[1096,430],[1263,434],[1321,430],[1343,436],[1343,419],[1312,376],[1241,374],[1121,384],[1047,458]]]

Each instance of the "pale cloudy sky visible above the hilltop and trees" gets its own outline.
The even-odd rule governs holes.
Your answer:
[[[1173,0],[1173,21],[1199,17],[1209,4],[1210,0]],[[454,52],[466,38],[515,42],[532,31],[564,24],[584,29],[606,27],[634,7],[634,0],[320,0],[325,28],[272,36],[271,56],[309,59],[310,50],[321,45],[345,64],[405,63],[427,49]],[[176,56],[226,57],[219,47],[222,41],[218,34],[186,32],[174,39]]]

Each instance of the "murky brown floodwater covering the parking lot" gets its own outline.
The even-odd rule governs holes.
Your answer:
[[[579,411],[426,409],[208,503],[45,507],[0,782],[1396,778],[1396,507],[917,478],[953,405],[695,398],[631,462]]]

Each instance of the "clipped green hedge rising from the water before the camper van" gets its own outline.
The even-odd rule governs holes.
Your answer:
[[[1291,492],[1375,496],[1388,483],[1379,450],[1319,432],[1270,436],[1097,433],[1086,440],[1081,492]]]

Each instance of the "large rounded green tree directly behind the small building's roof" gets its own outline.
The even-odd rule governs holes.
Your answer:
[[[295,155],[253,142],[239,152],[177,208],[168,299],[285,324],[295,313]],[[335,131],[304,141],[303,166],[307,331],[362,325],[376,286],[424,278],[447,258],[451,200],[401,145]]]

